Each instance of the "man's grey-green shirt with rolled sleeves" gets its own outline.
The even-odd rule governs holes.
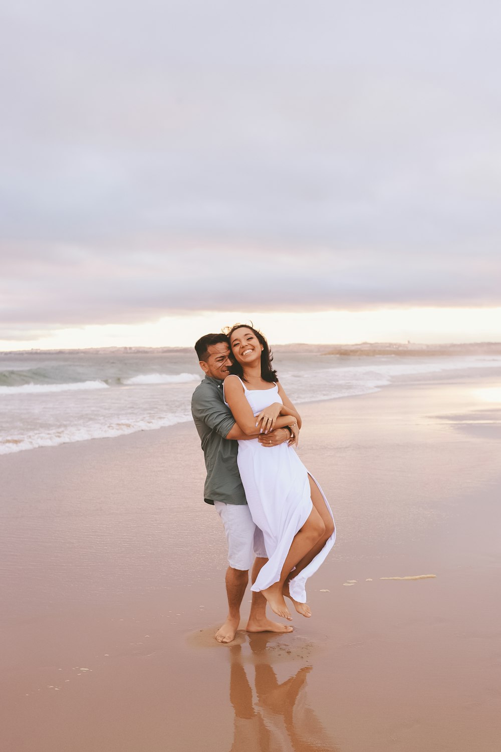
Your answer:
[[[207,504],[246,504],[237,467],[238,442],[226,438],[235,425],[222,393],[222,381],[206,376],[192,396],[192,416],[204,451]]]

